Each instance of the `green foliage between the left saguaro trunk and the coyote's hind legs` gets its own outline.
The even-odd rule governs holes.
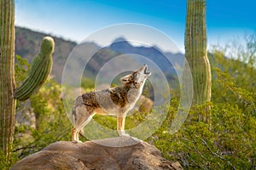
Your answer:
[[[16,56],[15,77],[20,84],[26,78],[30,64],[26,59]],[[71,139],[71,122],[68,120],[65,108],[61,100],[61,85],[53,80],[46,82],[37,94],[32,94],[29,101],[17,101],[17,113],[20,111],[28,115],[28,120],[35,117],[33,126],[24,121],[16,122],[15,141],[13,144],[12,161],[9,165],[1,165],[8,168],[12,163],[24,156],[42,150],[45,146],[59,140]],[[4,169],[0,166],[0,169]]]

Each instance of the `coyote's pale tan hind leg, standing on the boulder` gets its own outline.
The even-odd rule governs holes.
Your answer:
[[[72,141],[79,142],[79,132],[87,125],[94,114],[90,113],[84,105],[79,105],[75,108],[74,117],[74,127],[72,130]]]

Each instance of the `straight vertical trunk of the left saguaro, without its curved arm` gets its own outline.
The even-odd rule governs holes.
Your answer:
[[[15,2],[0,0],[0,150],[9,155],[15,131]]]

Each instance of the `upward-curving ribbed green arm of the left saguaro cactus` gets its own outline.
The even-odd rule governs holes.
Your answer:
[[[44,37],[40,52],[33,59],[28,77],[19,88],[15,89],[15,98],[20,101],[28,99],[37,92],[49,77],[52,68],[52,54],[54,52],[54,40],[51,37]]]

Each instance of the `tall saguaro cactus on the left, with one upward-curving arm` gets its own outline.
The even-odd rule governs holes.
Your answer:
[[[54,40],[44,37],[28,77],[15,89],[15,1],[0,0],[0,151],[7,158],[14,139],[15,99],[28,99],[44,84],[51,71],[54,47]]]

